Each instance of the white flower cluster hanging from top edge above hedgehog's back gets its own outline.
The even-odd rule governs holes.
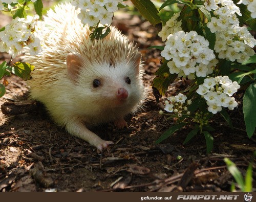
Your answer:
[[[122,0],[75,0],[72,5],[80,9],[78,18],[84,25],[95,27],[99,21],[102,25],[111,24],[119,3],[123,4]]]

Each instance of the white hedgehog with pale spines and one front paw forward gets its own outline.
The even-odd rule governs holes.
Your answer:
[[[44,51],[24,60],[35,66],[28,82],[31,98],[47,107],[60,126],[99,150],[113,144],[88,128],[134,113],[144,98],[141,54],[126,36],[111,27],[102,40],[90,40],[88,26],[71,4],[61,4],[45,17]]]

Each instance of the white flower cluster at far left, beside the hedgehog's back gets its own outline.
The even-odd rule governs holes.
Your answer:
[[[37,55],[42,51],[38,30],[39,16],[27,16],[27,18],[16,17],[5,30],[0,32],[0,52],[7,52],[12,57],[22,53],[24,47],[30,49],[31,55]]]

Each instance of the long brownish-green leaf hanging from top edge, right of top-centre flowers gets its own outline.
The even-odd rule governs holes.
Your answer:
[[[158,10],[150,0],[131,0],[133,5],[139,10],[140,14],[145,17],[152,25],[161,23]]]

